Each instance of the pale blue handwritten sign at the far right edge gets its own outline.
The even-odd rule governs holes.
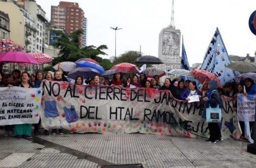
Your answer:
[[[255,95],[237,96],[237,119],[238,121],[255,120]]]

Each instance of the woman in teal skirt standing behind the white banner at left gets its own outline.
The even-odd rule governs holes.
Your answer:
[[[31,84],[29,83],[29,74],[27,72],[22,72],[21,83],[18,85],[18,87],[32,88]],[[16,124],[14,125],[14,135],[18,140],[22,140],[23,136],[26,139],[32,139],[31,127],[32,124]]]

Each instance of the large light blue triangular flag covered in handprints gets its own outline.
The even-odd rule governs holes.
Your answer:
[[[217,27],[200,69],[212,72],[212,74],[215,74],[218,77],[220,83],[224,85],[226,82],[235,80],[234,71],[230,68],[226,68],[228,64],[230,64],[230,58],[228,57],[226,47]]]

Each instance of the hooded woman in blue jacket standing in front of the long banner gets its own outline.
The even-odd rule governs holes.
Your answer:
[[[222,108],[222,100],[220,94],[217,90],[217,81],[211,80],[208,83],[209,92],[206,97],[203,98],[204,112],[202,113],[202,118],[206,119],[206,108],[212,107],[216,108],[219,105],[219,108]],[[208,128],[210,131],[210,138],[206,140],[208,143],[216,143],[216,141],[222,141],[222,136],[220,133],[220,126],[218,123],[208,123]]]

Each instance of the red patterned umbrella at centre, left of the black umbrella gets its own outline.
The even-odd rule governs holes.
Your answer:
[[[116,64],[114,66],[112,66],[112,68],[110,68],[111,70],[113,70],[115,73],[117,72],[122,72],[122,73],[132,73],[132,72],[138,72],[140,71],[140,68],[134,64],[130,64],[130,63],[120,63],[120,64]]]

